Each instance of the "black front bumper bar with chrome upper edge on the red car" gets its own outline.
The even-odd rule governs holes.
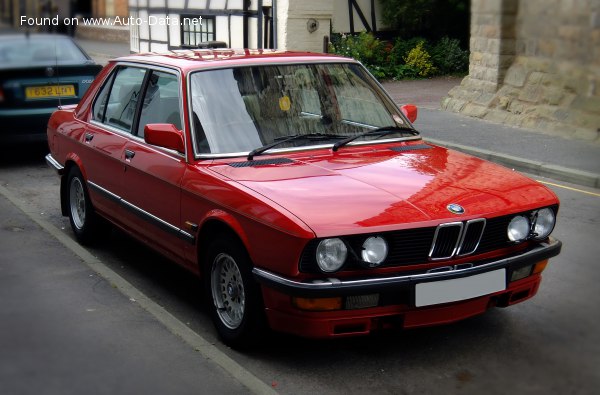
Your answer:
[[[341,295],[353,292],[377,292],[389,287],[398,290],[401,285],[414,285],[417,282],[440,281],[452,278],[468,277],[475,274],[488,272],[501,268],[516,269],[528,264],[551,258],[560,253],[562,243],[550,238],[548,242],[540,243],[522,254],[502,258],[483,265],[468,267],[467,265],[456,265],[451,271],[437,273],[411,274],[406,276],[390,276],[365,278],[358,280],[340,280],[327,278],[320,282],[300,282],[291,280],[264,269],[254,268],[252,273],[265,285],[279,288],[292,294],[303,295]]]

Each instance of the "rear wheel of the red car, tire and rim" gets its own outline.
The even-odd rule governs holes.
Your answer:
[[[67,175],[67,211],[71,229],[81,244],[90,244],[98,230],[99,218],[94,211],[85,179],[81,171],[73,166]]]

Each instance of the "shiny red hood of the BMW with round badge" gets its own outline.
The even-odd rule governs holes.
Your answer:
[[[348,147],[211,169],[284,207],[318,237],[435,226],[557,202],[543,185],[504,167],[441,147],[411,147]],[[464,214],[451,213],[449,204]]]

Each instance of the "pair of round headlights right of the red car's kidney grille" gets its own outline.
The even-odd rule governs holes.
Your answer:
[[[529,217],[517,215],[508,224],[508,239],[514,242],[521,242],[530,237],[545,239],[552,233],[555,223],[556,216],[550,208],[534,211]]]

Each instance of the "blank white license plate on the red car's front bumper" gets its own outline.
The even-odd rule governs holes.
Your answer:
[[[506,289],[506,269],[415,286],[415,305],[430,306],[476,298]]]

